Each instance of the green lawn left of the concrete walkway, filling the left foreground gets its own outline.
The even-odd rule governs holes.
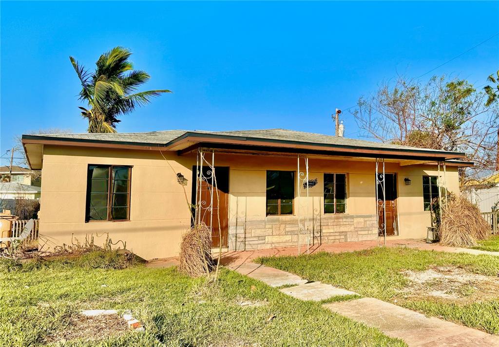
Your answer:
[[[82,309],[131,309],[146,331],[57,346],[405,346],[226,269],[214,285],[176,268],[81,266],[0,272],[0,346],[43,345]]]

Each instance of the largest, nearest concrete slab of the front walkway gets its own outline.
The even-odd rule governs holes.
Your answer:
[[[409,346],[499,347],[499,337],[472,328],[428,318],[423,314],[373,298],[324,305],[327,309],[378,328]]]

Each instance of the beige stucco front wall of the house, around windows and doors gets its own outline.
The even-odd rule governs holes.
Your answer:
[[[179,157],[176,153],[167,152],[163,155],[167,160],[158,151],[45,146],[39,214],[40,233],[49,236],[53,243],[58,245],[70,244],[71,234],[82,241],[86,234],[109,233],[114,242],[126,241],[127,248],[143,258],[176,256],[181,235],[190,225],[190,213],[186,207],[184,190],[177,183],[176,173],[181,172],[188,179],[185,189],[190,202],[192,166],[195,165],[196,158],[192,155]],[[376,213],[375,176],[372,161],[310,158],[309,178],[318,178],[318,184],[309,190],[308,201],[306,197],[302,197],[301,200],[295,199],[294,216],[281,217],[265,216],[265,171],[296,171],[296,158],[216,154],[215,161],[216,166],[229,166],[231,169],[229,211],[231,230],[239,228],[238,230],[245,232],[247,236],[252,230],[259,230],[263,234],[260,238],[265,241],[265,247],[287,245],[289,242],[294,244],[297,236],[293,238],[291,234],[296,234],[296,231],[289,227],[285,234],[279,227],[272,225],[292,226],[297,223],[298,213],[302,216],[308,214],[312,216],[312,219],[319,218],[322,221],[336,218],[323,214],[322,179],[324,172],[347,173],[345,221],[351,221],[352,226],[355,223],[358,235],[355,234],[356,236],[352,237],[352,234],[348,234],[345,221],[339,220],[338,223],[333,221],[331,223],[338,225],[338,232],[344,233],[344,237],[343,234],[338,234],[339,237],[331,234],[322,242],[372,238],[372,231],[367,230],[371,226],[367,217],[374,216]],[[133,166],[130,221],[85,223],[88,164]],[[386,172],[398,174],[399,235],[397,237],[424,237],[426,227],[430,224],[430,215],[429,212],[423,211],[422,176],[436,175],[436,167],[428,165],[400,167],[396,163],[387,163]],[[410,186],[404,184],[405,177],[412,180]],[[447,185],[449,190],[459,191],[456,168],[448,168]],[[306,193],[302,190],[302,194]],[[336,228],[331,225],[327,227]],[[242,228],[247,230],[243,231]],[[268,230],[273,230],[277,234],[268,235]],[[97,243],[103,239],[104,236],[98,239],[100,241]],[[241,249],[241,245],[238,249]]]

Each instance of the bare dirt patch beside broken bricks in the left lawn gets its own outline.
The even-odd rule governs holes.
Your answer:
[[[111,335],[119,335],[130,330],[126,321],[119,315],[83,316],[71,315],[68,324],[45,338],[46,343],[64,342],[73,339],[94,341]]]

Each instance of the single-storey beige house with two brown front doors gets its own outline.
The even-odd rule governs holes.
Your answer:
[[[42,169],[40,234],[70,244],[109,233],[146,259],[178,255],[192,206],[228,250],[423,238],[440,187],[459,192],[458,168],[473,165],[459,152],[284,129],[22,143]]]

